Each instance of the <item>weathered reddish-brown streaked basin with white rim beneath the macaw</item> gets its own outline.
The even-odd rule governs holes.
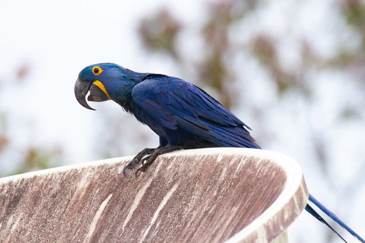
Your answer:
[[[180,150],[0,179],[0,242],[279,242],[305,207],[299,165],[258,149]]]

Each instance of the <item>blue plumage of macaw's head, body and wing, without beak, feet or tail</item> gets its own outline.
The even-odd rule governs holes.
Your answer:
[[[96,66],[103,70],[98,75],[92,72]],[[79,80],[99,80],[113,101],[157,133],[162,147],[260,148],[241,120],[182,79],[101,63],[84,68]]]

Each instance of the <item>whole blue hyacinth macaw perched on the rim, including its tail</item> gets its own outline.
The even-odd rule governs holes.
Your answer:
[[[160,146],[143,149],[124,167],[124,176],[126,169],[132,169],[141,162],[142,166],[135,171],[137,177],[138,172],[145,171],[158,155],[180,149],[261,149],[251,137],[249,126],[204,90],[183,79],[134,72],[114,63],[100,63],[85,67],[78,74],[74,87],[77,101],[94,110],[86,102],[88,92],[88,101],[115,101],[160,138]],[[365,243],[312,195],[309,195],[309,201]],[[341,237],[309,204],[306,210]]]

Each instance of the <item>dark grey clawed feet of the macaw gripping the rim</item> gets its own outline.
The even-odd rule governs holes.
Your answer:
[[[125,176],[126,173],[126,169],[132,169],[134,168],[135,164],[138,164],[140,161],[142,162],[142,166],[140,168],[137,169],[137,171],[135,172],[135,177],[138,178],[138,172],[144,172],[146,170],[146,168],[152,164],[152,162],[155,160],[155,158],[157,158],[157,156],[159,156],[160,154],[165,154],[165,153],[169,153],[169,152],[173,152],[176,150],[180,150],[180,149],[184,149],[183,146],[179,146],[179,145],[166,145],[165,147],[159,147],[159,148],[155,148],[155,149],[143,149],[141,152],[139,152],[137,154],[136,157],[133,158],[133,160],[131,162],[129,162],[128,165],[126,165],[126,167],[124,167],[123,169],[123,175]],[[143,158],[146,154],[151,154],[145,158]]]

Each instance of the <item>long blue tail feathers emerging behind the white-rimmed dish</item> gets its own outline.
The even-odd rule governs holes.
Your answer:
[[[358,240],[360,240],[362,243],[365,243],[365,240],[362,239],[360,237],[360,235],[356,234],[353,230],[351,230],[351,228],[349,226],[347,226],[345,223],[342,222],[341,219],[339,219],[336,215],[334,215],[331,211],[329,211],[326,207],[324,207],[319,201],[317,201],[312,195],[309,194],[309,201],[311,201],[314,205],[316,205],[321,211],[323,211],[324,213],[326,213],[326,215],[328,215],[328,217],[330,217],[331,219],[333,219],[336,223],[338,223],[341,227],[343,227],[345,230],[349,231],[351,235],[353,235],[354,237],[356,237]],[[333,230],[339,237],[341,237],[341,235],[339,235],[337,233],[337,231],[334,230],[334,228],[332,228],[324,219],[323,217],[321,217],[316,211],[314,211],[314,209],[310,206],[310,205],[306,205],[306,210],[313,215],[316,219],[318,219],[320,222],[326,224],[331,230]],[[344,240],[342,237],[341,239],[346,242],[346,240]]]

